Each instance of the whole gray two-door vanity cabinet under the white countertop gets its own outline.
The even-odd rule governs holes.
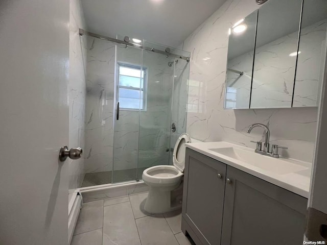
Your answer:
[[[186,148],[182,231],[197,245],[302,244],[307,202]]]

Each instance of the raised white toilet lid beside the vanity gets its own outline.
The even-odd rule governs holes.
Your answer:
[[[176,141],[173,153],[174,166],[183,173],[185,167],[185,143],[190,143],[191,137],[189,134],[181,134]]]

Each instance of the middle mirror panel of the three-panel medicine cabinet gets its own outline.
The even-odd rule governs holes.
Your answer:
[[[292,106],[300,13],[301,0],[259,9],[250,108]]]

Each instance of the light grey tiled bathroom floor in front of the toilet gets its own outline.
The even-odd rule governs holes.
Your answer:
[[[144,210],[148,192],[84,203],[72,245],[195,245],[181,232],[181,209]]]

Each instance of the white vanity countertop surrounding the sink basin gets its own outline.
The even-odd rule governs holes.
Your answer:
[[[185,145],[187,148],[202,153],[203,155],[206,155],[215,160],[223,162],[227,165],[240,169],[250,175],[268,181],[274,185],[292,191],[296,194],[301,195],[302,197],[309,198],[309,188],[310,188],[310,178],[311,178],[311,168],[312,168],[311,163],[279,157],[279,159],[283,161],[287,161],[289,163],[302,166],[302,169],[299,171],[293,171],[292,173],[277,174],[260,168],[258,164],[257,166],[254,166],[251,164],[247,164],[244,161],[232,157],[228,157],[226,155],[219,154],[215,151],[209,150],[209,149],[232,147],[232,148],[242,149],[247,152],[252,152],[253,154],[258,154],[258,153],[254,153],[254,149],[246,148],[244,146],[240,146],[224,141],[186,143]],[[265,158],[272,158],[270,156],[262,156],[262,157],[263,160]],[[267,159],[267,161],[269,161],[269,159]]]

